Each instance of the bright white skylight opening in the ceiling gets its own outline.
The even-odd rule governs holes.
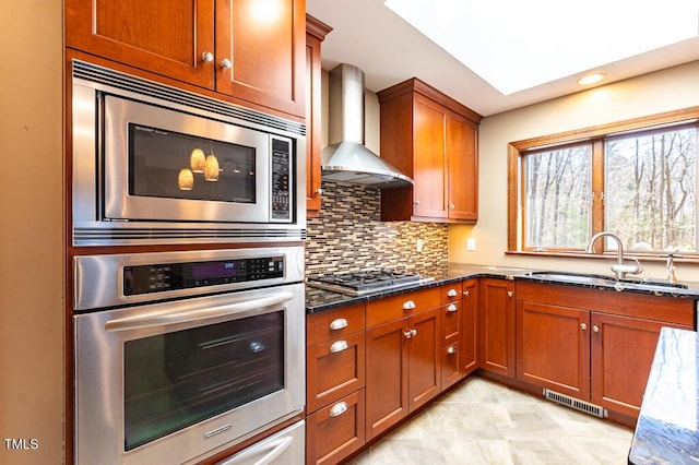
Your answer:
[[[503,95],[691,39],[699,31],[697,0],[384,4]]]

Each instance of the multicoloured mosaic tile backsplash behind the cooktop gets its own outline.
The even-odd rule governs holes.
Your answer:
[[[447,265],[447,225],[381,222],[381,191],[323,181],[320,217],[308,218],[306,273],[399,269],[428,274]],[[417,252],[417,239],[423,251]]]

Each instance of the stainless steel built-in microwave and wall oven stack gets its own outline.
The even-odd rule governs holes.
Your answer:
[[[305,127],[72,80],[75,462],[196,463],[292,424],[224,463],[301,464]]]

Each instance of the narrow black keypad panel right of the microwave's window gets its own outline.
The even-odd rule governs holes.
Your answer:
[[[272,222],[292,220],[292,141],[272,138]]]

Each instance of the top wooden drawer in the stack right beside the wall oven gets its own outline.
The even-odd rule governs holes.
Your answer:
[[[308,346],[364,330],[364,303],[342,307],[306,317]]]

